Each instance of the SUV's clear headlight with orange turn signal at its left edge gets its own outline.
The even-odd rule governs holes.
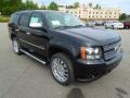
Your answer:
[[[101,59],[102,50],[101,48],[90,48],[90,47],[81,47],[81,58],[93,60],[93,59]]]

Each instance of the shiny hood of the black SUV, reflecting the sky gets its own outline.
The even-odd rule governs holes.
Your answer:
[[[117,33],[91,27],[64,29],[63,33],[90,41],[92,45],[108,45],[120,40]]]

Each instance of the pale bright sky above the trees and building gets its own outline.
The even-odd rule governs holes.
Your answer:
[[[24,0],[25,1],[25,0]],[[38,4],[49,4],[52,1],[55,1],[58,4],[72,4],[76,1],[80,3],[101,4],[103,8],[120,8],[122,12],[130,14],[130,0],[32,0]]]

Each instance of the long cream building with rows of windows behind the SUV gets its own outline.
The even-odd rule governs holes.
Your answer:
[[[94,9],[87,5],[80,5],[77,9],[66,9],[65,7],[61,7],[58,10],[74,14],[83,20],[118,20],[120,15],[120,9],[118,8]]]

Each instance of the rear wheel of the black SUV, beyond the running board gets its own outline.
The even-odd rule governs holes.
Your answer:
[[[15,45],[15,44],[16,44],[16,45]],[[20,46],[16,37],[14,37],[14,38],[12,39],[12,46],[13,46],[13,51],[14,51],[16,54],[22,54],[22,53],[23,53],[23,52],[21,51],[21,46]],[[17,49],[15,49],[16,46],[17,46]]]

